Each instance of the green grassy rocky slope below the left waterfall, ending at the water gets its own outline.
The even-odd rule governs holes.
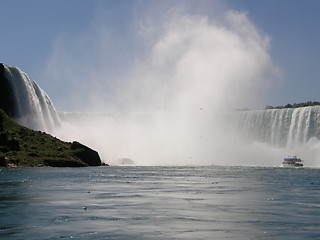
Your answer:
[[[0,109],[0,166],[100,165],[100,157],[94,150],[78,142],[63,142],[44,132],[23,127]]]

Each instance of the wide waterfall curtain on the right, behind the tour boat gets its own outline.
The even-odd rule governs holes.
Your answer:
[[[320,106],[241,111],[233,115],[245,138],[290,147],[320,139]]]

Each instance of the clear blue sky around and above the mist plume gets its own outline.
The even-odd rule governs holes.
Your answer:
[[[161,20],[179,4],[188,14],[209,19],[228,10],[246,13],[255,28],[268,36],[268,51],[281,80],[266,104],[320,101],[318,0],[0,0],[0,62],[25,71],[59,110],[73,110],[72,103],[66,104],[72,102],[67,96],[85,94],[87,85],[81,83],[86,81],[86,71],[97,68],[97,74],[102,74],[105,68],[108,84],[103,86],[116,87],[112,81],[125,77],[125,69],[149,49],[152,41],[142,41],[141,31],[152,32],[154,25],[161,28]],[[53,67],[58,70],[50,74]]]

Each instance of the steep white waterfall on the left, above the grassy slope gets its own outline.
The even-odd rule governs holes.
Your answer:
[[[13,99],[12,117],[23,126],[34,130],[50,131],[60,120],[48,95],[14,66],[3,65],[3,75],[10,86]]]

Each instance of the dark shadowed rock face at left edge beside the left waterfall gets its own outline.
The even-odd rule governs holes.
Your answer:
[[[2,108],[9,117],[15,116],[15,100],[8,79],[5,77],[5,68],[0,63],[0,108]]]

